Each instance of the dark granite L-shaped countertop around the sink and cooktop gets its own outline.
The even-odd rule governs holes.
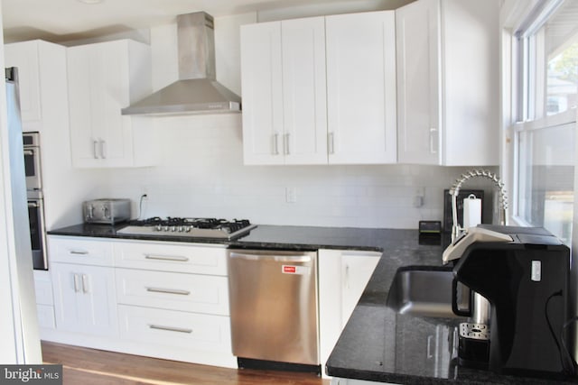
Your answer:
[[[326,364],[325,371],[329,375],[404,384],[561,383],[556,380],[512,377],[456,366],[452,335],[458,319],[399,315],[386,306],[388,290],[397,268],[407,265],[440,266],[443,252],[441,243],[447,243],[445,238],[419,239],[416,230],[259,225],[251,230],[250,234],[227,241],[117,234],[117,230],[122,227],[123,225],[72,225],[52,230],[49,234],[222,243],[238,248],[328,248],[383,252],[383,257]],[[568,383],[578,383],[578,380]]]

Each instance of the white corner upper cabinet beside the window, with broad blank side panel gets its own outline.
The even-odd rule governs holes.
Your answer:
[[[499,162],[499,0],[396,10],[400,163]]]

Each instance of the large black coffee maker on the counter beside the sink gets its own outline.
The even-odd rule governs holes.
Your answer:
[[[472,239],[466,234],[454,242],[454,252],[461,249],[461,256],[453,272],[456,280],[489,300],[489,370],[560,378],[570,375],[573,361],[564,331],[570,280],[568,247],[543,228],[478,228],[480,233],[494,236],[478,234]],[[500,239],[499,234],[510,241],[503,236]],[[461,242],[464,244],[458,247]],[[468,346],[460,350],[459,354],[471,351]]]

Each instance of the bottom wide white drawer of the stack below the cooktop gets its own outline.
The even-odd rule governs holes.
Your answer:
[[[119,305],[122,339],[204,352],[230,353],[228,316]]]

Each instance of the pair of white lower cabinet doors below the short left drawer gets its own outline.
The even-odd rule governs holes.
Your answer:
[[[118,334],[112,268],[52,263],[51,276],[59,330],[89,335]]]

